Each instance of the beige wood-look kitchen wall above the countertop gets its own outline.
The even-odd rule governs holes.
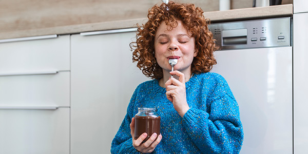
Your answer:
[[[219,10],[218,0],[175,0],[205,12]],[[144,18],[161,0],[0,0],[0,33],[27,29]],[[283,0],[283,4],[293,0]],[[231,9],[249,8],[253,0],[231,0]]]

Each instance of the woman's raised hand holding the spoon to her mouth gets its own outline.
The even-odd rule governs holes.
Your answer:
[[[172,102],[176,111],[183,117],[189,109],[186,101],[185,75],[178,70],[172,71],[170,74],[179,76],[179,80],[170,78],[165,83],[167,99]]]

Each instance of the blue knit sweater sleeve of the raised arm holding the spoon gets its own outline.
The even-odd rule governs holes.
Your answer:
[[[204,153],[239,153],[243,128],[239,107],[224,79],[204,100],[208,109],[190,108],[183,117],[184,127]]]

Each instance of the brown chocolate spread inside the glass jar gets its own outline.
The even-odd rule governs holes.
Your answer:
[[[147,137],[143,140],[146,142],[151,135],[156,132],[157,137],[160,134],[160,116],[153,114],[146,114],[145,116],[135,115],[135,127],[134,127],[134,139],[138,139],[144,132],[147,133]]]

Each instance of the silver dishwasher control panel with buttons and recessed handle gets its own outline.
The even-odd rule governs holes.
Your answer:
[[[291,17],[208,25],[222,50],[291,46]]]

